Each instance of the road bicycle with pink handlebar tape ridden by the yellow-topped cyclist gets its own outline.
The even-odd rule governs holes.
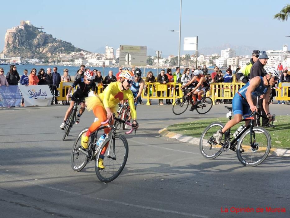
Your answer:
[[[132,127],[131,130],[126,132],[126,134],[130,134],[133,130],[135,130],[136,134],[136,128],[132,126],[131,123],[115,117],[114,114],[113,116],[116,122],[125,123]],[[94,160],[96,175],[100,181],[111,182],[120,175],[127,162],[129,148],[126,138],[123,135],[116,133],[116,122],[114,122],[114,125],[108,124],[110,123],[108,120],[101,123],[102,125],[107,125],[101,126],[90,135],[87,149],[84,149],[81,146],[81,136],[88,131],[88,128],[81,130],[71,151],[71,168],[74,171],[81,171],[86,164],[91,160]],[[110,128],[110,132],[106,135],[104,141],[98,146],[97,141],[100,137],[100,135],[98,136],[98,132],[105,128]],[[100,154],[103,149],[106,151],[103,159],[105,169],[98,167]]]

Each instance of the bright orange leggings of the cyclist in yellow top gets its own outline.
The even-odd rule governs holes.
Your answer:
[[[89,130],[85,133],[86,136],[90,136],[92,132],[96,131],[97,129],[99,129],[100,126],[102,126],[101,125],[102,122],[108,120],[107,112],[103,106],[97,105],[96,107],[94,107],[93,112],[94,112],[95,117],[97,117],[99,120],[92,123]],[[111,124],[113,123],[114,122],[112,121]],[[110,129],[105,128],[104,132],[108,134],[110,132]],[[104,146],[104,149],[102,150],[101,155],[105,154],[107,147],[108,147],[108,143],[107,145]]]

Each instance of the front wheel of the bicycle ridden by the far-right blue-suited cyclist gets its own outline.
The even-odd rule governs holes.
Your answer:
[[[251,146],[252,138],[252,146]],[[244,152],[240,151],[240,147],[244,149]],[[237,144],[237,158],[239,161],[247,167],[255,167],[262,163],[268,156],[271,149],[271,136],[262,127],[253,127],[252,134],[250,129],[241,135]]]

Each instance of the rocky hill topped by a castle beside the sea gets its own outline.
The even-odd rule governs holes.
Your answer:
[[[7,56],[25,58],[49,58],[57,52],[70,54],[85,51],[71,45],[70,42],[53,38],[51,34],[41,32],[30,22],[21,21],[21,25],[7,30],[3,53]]]

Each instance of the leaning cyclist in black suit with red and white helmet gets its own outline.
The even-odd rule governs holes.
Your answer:
[[[70,97],[71,90],[75,88],[77,85],[78,89],[73,93],[73,98],[79,98],[82,101],[85,101],[85,97],[88,97],[90,90],[94,91],[96,88],[96,83],[94,83],[95,74],[93,71],[86,71],[85,72],[85,78],[78,78],[76,81],[72,84],[72,86],[68,89],[67,92],[67,100]],[[59,126],[62,130],[64,130],[65,123],[67,121],[67,117],[69,116],[71,109],[74,105],[75,101],[71,101],[70,107],[67,109],[67,112],[64,116],[63,123]],[[81,102],[81,108],[79,111],[79,114],[76,116],[76,124],[78,124],[81,121],[81,115],[85,111],[85,103]]]

